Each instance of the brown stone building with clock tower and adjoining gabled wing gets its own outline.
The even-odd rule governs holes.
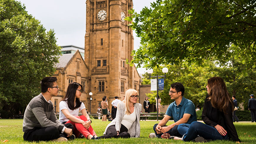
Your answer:
[[[115,96],[123,97],[129,88],[139,92],[139,73],[135,66],[126,64],[127,59],[132,59],[134,49],[133,32],[128,27],[130,22],[124,20],[129,16],[128,10],[133,8],[132,0],[87,0],[86,4],[84,60],[78,51],[73,55],[63,54],[59,59],[61,66],[56,67],[54,76],[61,90],[59,98],[53,97],[52,102],[57,112],[61,97],[73,81],[85,82],[86,89],[80,100],[92,114],[97,112],[104,96],[111,110]],[[89,92],[93,93],[92,109],[89,109]]]

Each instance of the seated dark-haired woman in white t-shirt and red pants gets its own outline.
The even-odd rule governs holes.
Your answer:
[[[59,121],[63,124],[72,124],[74,126],[73,134],[76,137],[82,133],[87,139],[98,139],[92,129],[92,120],[86,112],[84,103],[79,100],[82,91],[81,84],[77,82],[69,84],[65,97],[59,102]],[[79,110],[82,112],[81,116],[78,116]]]

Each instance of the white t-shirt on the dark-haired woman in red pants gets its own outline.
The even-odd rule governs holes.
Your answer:
[[[69,109],[68,103],[66,101],[59,102],[59,121],[62,123],[64,121],[69,121],[66,116],[61,112],[62,109],[67,109],[69,113],[73,116],[78,116],[79,110],[85,109],[84,103],[81,103],[81,106],[77,109],[71,110]]]

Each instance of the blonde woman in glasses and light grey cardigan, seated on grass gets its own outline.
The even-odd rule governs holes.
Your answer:
[[[137,103],[137,90],[125,92],[124,100],[117,104],[116,118],[109,123],[100,138],[130,138],[140,136],[139,116],[142,105]]]

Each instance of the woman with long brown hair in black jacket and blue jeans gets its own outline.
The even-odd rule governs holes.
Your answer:
[[[227,92],[226,84],[220,77],[212,77],[206,86],[208,95],[202,112],[201,122],[180,124],[178,131],[184,134],[182,138],[174,137],[176,140],[195,142],[207,142],[209,140],[234,140],[240,141],[237,131],[233,124],[232,111],[234,110],[233,101]]]

